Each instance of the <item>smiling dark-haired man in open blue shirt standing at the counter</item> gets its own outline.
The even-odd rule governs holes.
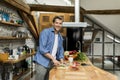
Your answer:
[[[44,29],[39,37],[39,48],[35,55],[36,79],[49,80],[49,71],[52,66],[63,63],[63,38],[60,34],[63,19],[60,16],[53,18],[53,27]]]

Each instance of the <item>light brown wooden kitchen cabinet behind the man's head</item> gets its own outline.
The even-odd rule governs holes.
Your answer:
[[[39,18],[39,31],[41,32],[45,28],[49,28],[52,26],[52,20],[55,16],[61,16],[63,17],[64,21],[68,22],[69,21],[69,15],[65,13],[40,13],[40,18]],[[61,34],[62,36],[66,36],[67,34],[67,29],[62,28]]]

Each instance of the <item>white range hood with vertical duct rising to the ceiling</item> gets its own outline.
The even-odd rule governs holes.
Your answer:
[[[80,22],[80,0],[75,0],[75,22],[63,22],[63,27],[87,27],[87,22]]]

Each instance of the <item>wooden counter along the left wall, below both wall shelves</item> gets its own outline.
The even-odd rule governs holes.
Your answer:
[[[20,62],[20,61],[22,61],[22,60],[24,60],[24,59],[26,59],[26,58],[28,58],[30,56],[33,56],[34,54],[35,54],[35,52],[34,53],[30,53],[30,54],[25,54],[25,55],[20,56],[19,59],[17,59],[17,60],[15,60],[15,59],[8,59],[8,60],[2,61],[2,63],[11,63],[11,64],[18,63],[18,62]]]

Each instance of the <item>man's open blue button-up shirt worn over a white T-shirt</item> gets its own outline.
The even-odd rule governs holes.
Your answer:
[[[45,57],[45,53],[52,54],[52,49],[54,45],[55,33],[54,28],[44,29],[39,36],[39,47],[37,53],[34,57],[34,61],[38,64],[48,67],[50,59]],[[63,49],[63,38],[60,33],[58,33],[58,49],[56,54],[56,59],[60,60],[64,58]]]

